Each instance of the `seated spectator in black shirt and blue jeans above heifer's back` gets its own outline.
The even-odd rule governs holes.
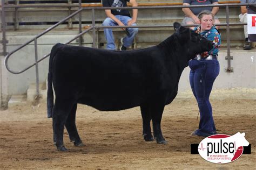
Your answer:
[[[130,2],[132,6],[138,6],[136,0],[103,0],[104,7],[125,7],[127,2]],[[132,18],[127,9],[105,10],[107,18],[103,22],[103,26],[124,26],[124,25],[136,25],[138,9],[132,10]],[[138,33],[138,28],[123,29],[127,36],[121,39],[122,46],[120,51],[126,51],[126,48],[132,45],[133,39]],[[114,44],[114,37],[112,29],[104,29],[105,38],[107,41],[107,49],[116,50],[116,44]]]

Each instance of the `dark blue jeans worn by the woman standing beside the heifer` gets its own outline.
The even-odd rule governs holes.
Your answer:
[[[220,66],[218,60],[190,60],[190,86],[197,99],[200,122],[199,128],[194,133],[200,136],[209,136],[216,133],[212,117],[212,106],[209,97],[213,82],[219,75]]]

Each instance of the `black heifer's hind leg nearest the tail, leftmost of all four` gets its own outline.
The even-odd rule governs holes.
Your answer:
[[[53,142],[58,151],[67,151],[63,143],[64,125],[72,109],[73,101],[56,98],[52,114]]]

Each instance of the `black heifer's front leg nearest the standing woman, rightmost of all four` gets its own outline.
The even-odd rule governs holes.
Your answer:
[[[151,116],[153,122],[153,132],[154,138],[157,140],[158,144],[167,144],[167,141],[164,139],[161,131],[161,118],[164,111],[164,105],[152,105],[151,107]]]

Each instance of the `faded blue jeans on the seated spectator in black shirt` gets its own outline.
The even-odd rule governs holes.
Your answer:
[[[127,25],[127,22],[132,19],[130,17],[120,16],[120,15],[117,15],[115,17],[117,19],[119,19],[124,25]],[[102,23],[102,25],[103,26],[116,26],[118,24],[116,22],[114,22],[114,20],[112,20],[111,18],[107,17],[104,20],[104,22]],[[132,25],[136,25],[136,24],[134,23]],[[136,36],[136,34],[138,33],[139,29],[138,28],[127,28],[127,31],[130,33],[130,35],[126,36],[123,39],[123,45],[126,48],[130,47],[132,45],[133,39]],[[114,44],[114,37],[113,37],[112,29],[104,29],[104,34],[105,34],[105,38],[106,38],[106,41],[107,41],[107,49],[115,50],[116,45]]]

